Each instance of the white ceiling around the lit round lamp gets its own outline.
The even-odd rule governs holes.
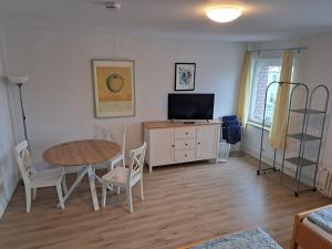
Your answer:
[[[96,30],[232,41],[276,40],[332,30],[332,0],[120,0],[107,11],[98,0],[0,0],[2,27]],[[243,14],[214,23],[208,7],[238,3]]]

